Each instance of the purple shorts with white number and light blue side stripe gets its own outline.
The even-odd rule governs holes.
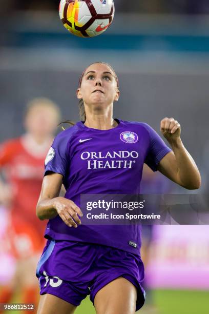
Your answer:
[[[109,282],[124,277],[137,288],[136,310],[145,300],[141,287],[144,267],[133,253],[113,247],[62,240],[48,240],[38,262],[40,295],[50,293],[75,306]]]

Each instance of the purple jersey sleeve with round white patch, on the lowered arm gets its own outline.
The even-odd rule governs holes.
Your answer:
[[[64,131],[65,132],[65,131]],[[45,173],[52,171],[60,173],[63,176],[66,174],[66,169],[69,163],[68,156],[68,142],[69,139],[65,136],[64,132],[59,133],[54,139],[45,159]]]

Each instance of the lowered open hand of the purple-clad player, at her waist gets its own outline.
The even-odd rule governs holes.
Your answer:
[[[58,197],[54,201],[55,209],[62,221],[69,227],[77,228],[81,224],[78,215],[80,217],[83,215],[80,208],[73,201],[66,198]]]

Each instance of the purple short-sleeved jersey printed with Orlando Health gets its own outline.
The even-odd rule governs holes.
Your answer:
[[[139,194],[143,163],[156,171],[160,160],[171,151],[148,124],[115,120],[118,126],[110,130],[88,128],[78,122],[59,133],[49,150],[45,174],[62,174],[65,197],[78,207],[80,194]],[[140,254],[141,226],[70,228],[57,215],[49,220],[45,237],[103,244]]]

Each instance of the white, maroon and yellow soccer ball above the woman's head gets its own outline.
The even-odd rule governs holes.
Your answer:
[[[79,37],[103,33],[112,23],[113,0],[61,0],[59,16],[63,25]]]

